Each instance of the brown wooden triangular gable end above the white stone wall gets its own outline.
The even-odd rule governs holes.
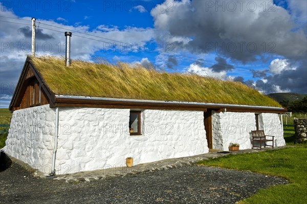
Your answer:
[[[11,111],[39,105],[54,104],[54,94],[27,58],[19,77],[9,109]]]

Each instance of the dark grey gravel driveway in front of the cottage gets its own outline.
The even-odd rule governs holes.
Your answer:
[[[35,178],[13,163],[0,172],[0,203],[235,203],[287,180],[212,167],[182,167],[94,180]]]

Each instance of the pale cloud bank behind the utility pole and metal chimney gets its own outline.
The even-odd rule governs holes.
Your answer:
[[[11,10],[7,10],[5,7],[3,7],[1,3],[0,6],[2,8],[1,16],[20,18],[19,16],[15,15]],[[23,17],[20,19],[29,20],[29,21],[23,21],[23,23],[29,24],[29,26],[0,22],[0,27],[1,27],[0,81],[1,83],[8,84],[9,86],[11,86],[11,84],[15,85],[17,83],[18,76],[20,75],[25,59],[27,55],[31,55],[31,17]],[[71,39],[72,59],[81,59],[87,61],[91,60],[92,55],[95,55],[96,52],[107,50],[109,48],[107,46],[107,43],[102,41],[111,42],[109,44],[112,44],[114,42],[111,40],[107,40],[105,38],[121,42],[146,43],[147,41],[152,40],[154,36],[152,28],[127,27],[122,30],[118,30],[117,27],[105,27],[103,25],[98,26],[102,30],[104,29],[104,31],[102,31],[99,29],[91,30],[89,26],[81,26],[79,24],[63,25],[58,21],[54,20],[40,19],[40,22],[51,26],[48,25],[42,26],[42,24],[40,24],[40,28],[37,29],[38,33],[36,35],[36,56],[42,56],[42,55],[64,56],[65,30],[67,31],[73,30],[81,33],[98,36],[94,37],[77,32],[72,32],[72,39]],[[47,30],[41,27],[50,28],[61,32]],[[63,28],[63,30],[57,29],[56,27]],[[78,37],[76,35],[84,36],[86,38]],[[116,44],[119,47],[121,46],[118,42],[116,42]],[[3,105],[4,104],[3,101],[6,100],[8,96],[11,96],[13,93],[11,92],[11,90],[5,90],[4,92],[4,89],[2,87],[2,94],[7,96],[3,95],[1,96],[2,97],[0,100],[2,103],[1,105]]]

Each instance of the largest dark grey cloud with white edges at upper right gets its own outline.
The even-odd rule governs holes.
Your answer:
[[[188,50],[196,55],[218,52],[244,63],[272,52],[286,58],[305,58],[305,27],[297,28],[289,12],[274,5],[273,0],[229,1],[230,4],[228,1],[167,2],[170,8],[159,4],[150,14],[157,41],[173,42],[175,51]],[[255,46],[252,48],[251,44]]]

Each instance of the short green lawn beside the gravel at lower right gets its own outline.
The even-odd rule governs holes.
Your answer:
[[[285,138],[293,145],[293,137]],[[228,169],[275,175],[288,179],[287,185],[262,189],[239,203],[306,203],[307,200],[307,145],[264,152],[229,155],[199,164]]]

